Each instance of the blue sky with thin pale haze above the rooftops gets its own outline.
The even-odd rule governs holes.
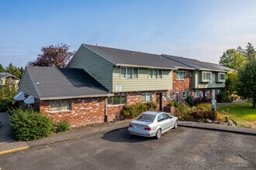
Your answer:
[[[0,63],[26,66],[42,46],[81,43],[218,63],[256,46],[256,1],[0,1]]]

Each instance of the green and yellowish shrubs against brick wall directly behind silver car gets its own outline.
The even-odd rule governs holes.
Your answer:
[[[137,117],[139,114],[144,111],[156,110],[157,105],[154,103],[137,103],[133,105],[124,105],[123,107],[123,117],[125,118],[133,118]]]

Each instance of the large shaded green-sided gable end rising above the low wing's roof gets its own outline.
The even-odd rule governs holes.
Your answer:
[[[112,69],[113,64],[98,54],[81,46],[78,53],[71,59],[68,68],[84,69],[92,75],[99,83],[102,83],[109,91],[112,90]]]

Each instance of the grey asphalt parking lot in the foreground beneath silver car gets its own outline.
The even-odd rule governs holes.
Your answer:
[[[181,128],[160,139],[127,129],[0,156],[2,169],[255,169],[256,137]]]

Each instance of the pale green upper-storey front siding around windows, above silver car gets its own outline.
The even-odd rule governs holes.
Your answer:
[[[121,86],[121,92],[172,89],[171,70],[163,70],[162,79],[148,79],[148,69],[146,68],[139,68],[138,79],[120,79],[120,67],[117,67],[112,73],[112,92],[117,92],[116,86]]]

